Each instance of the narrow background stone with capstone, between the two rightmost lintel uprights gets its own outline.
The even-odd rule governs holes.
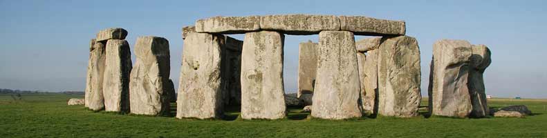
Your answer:
[[[364,112],[375,112],[378,99],[378,47],[382,37],[372,37],[355,42],[361,81],[361,103]],[[366,54],[365,54],[366,53]]]

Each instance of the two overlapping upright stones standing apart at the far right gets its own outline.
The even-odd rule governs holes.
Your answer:
[[[490,50],[464,40],[443,39],[433,46],[429,75],[429,112],[446,117],[485,117],[483,72]]]

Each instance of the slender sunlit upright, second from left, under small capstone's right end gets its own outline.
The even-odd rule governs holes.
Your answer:
[[[106,41],[106,63],[102,83],[104,110],[129,111],[129,75],[131,73],[131,50],[125,40]]]

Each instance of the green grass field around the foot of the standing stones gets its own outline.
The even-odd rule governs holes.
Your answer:
[[[490,99],[490,107],[524,104],[534,115],[523,119],[378,117],[328,121],[306,119],[290,110],[287,119],[175,119],[93,112],[67,106],[82,95],[34,94],[14,100],[0,95],[0,137],[547,137],[547,100]],[[426,101],[425,101],[426,102]],[[424,105],[427,103],[423,102]]]

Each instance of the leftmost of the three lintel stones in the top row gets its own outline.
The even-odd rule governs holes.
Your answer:
[[[212,17],[196,21],[196,32],[237,34],[260,30],[260,17]]]

